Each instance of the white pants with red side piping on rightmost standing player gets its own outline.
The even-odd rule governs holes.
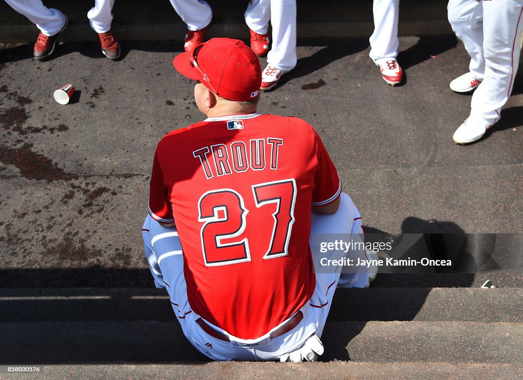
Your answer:
[[[472,95],[471,116],[499,120],[518,70],[523,43],[523,0],[450,0],[452,30],[470,55],[469,70],[482,80]]]

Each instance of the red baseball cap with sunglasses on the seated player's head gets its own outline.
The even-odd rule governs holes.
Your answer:
[[[248,101],[259,94],[258,57],[240,40],[211,38],[196,45],[191,52],[178,54],[173,65],[181,75],[199,80],[222,98]]]

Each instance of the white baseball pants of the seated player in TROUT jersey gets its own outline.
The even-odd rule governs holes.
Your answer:
[[[361,234],[361,217],[350,197],[342,193],[338,211],[332,215],[312,214],[313,234]],[[266,346],[256,348],[235,347],[231,342],[208,335],[197,323],[200,316],[191,309],[187,300],[187,287],[183,273],[183,256],[176,228],[165,228],[150,216],[142,228],[145,256],[149,261],[156,287],[165,287],[176,318],[189,342],[202,354],[213,360],[279,360],[283,354],[303,346],[313,333],[321,337],[342,267],[337,272],[316,273],[316,289],[310,301],[301,309],[303,319],[289,332],[270,340]],[[312,247],[313,259],[319,260],[318,247]],[[366,258],[362,250],[349,251],[347,257]],[[316,261],[315,260],[315,261]],[[351,286],[368,286],[369,275],[362,271],[344,274]],[[223,330],[219,330],[224,332]],[[241,342],[240,339],[238,341]],[[212,347],[212,348],[211,348]]]

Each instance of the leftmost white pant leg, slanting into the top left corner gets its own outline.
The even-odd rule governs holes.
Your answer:
[[[19,14],[26,16],[46,36],[54,36],[65,25],[65,15],[58,9],[48,8],[41,0],[5,0]]]

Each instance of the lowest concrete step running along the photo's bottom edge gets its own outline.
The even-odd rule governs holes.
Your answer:
[[[1,368],[1,367],[0,367]],[[35,378],[55,380],[57,378],[97,379],[234,379],[264,380],[279,379],[358,379],[358,380],[462,380],[496,379],[514,380],[521,378],[518,364],[488,363],[163,363],[163,364],[113,364],[113,365],[45,365],[33,376],[9,373],[9,379]],[[2,375],[6,375],[4,367]]]

